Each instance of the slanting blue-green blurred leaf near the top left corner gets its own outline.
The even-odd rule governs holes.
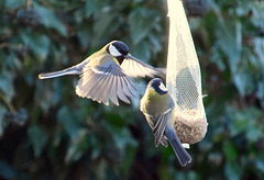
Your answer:
[[[41,16],[41,24],[43,24],[45,27],[54,29],[59,34],[66,36],[67,31],[65,25],[56,18],[55,12],[53,12],[51,9],[42,7],[37,3],[34,3],[35,11]]]

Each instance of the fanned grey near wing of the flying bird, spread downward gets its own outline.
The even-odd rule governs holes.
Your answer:
[[[132,80],[113,61],[108,66],[86,66],[76,86],[76,93],[109,104],[109,99],[119,105],[118,98],[130,103],[128,97],[135,97],[138,89]]]

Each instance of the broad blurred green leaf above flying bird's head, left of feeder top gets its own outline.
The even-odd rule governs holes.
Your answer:
[[[131,40],[134,45],[138,45],[147,34],[160,23],[160,18],[154,10],[136,8],[129,15],[129,25]]]

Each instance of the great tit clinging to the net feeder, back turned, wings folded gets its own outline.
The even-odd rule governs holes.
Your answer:
[[[153,131],[156,147],[160,143],[167,147],[168,140],[179,164],[186,166],[190,162],[191,157],[180,144],[174,130],[174,100],[160,78],[152,79],[148,82],[145,94],[141,99],[140,110]]]

